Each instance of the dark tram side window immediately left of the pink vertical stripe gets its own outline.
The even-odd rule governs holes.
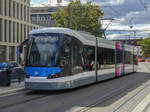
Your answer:
[[[115,50],[98,48],[98,69],[110,69],[115,67]]]

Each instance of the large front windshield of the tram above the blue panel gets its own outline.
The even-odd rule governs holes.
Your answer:
[[[26,63],[27,66],[57,66],[62,39],[63,34],[41,33],[31,35]]]

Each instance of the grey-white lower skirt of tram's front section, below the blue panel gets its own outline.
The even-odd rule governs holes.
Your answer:
[[[82,75],[82,74],[81,74]],[[66,76],[55,79],[46,77],[30,77],[25,80],[25,88],[31,90],[64,90],[73,89],[95,82],[95,76]]]

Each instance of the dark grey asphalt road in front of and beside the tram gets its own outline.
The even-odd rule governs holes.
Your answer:
[[[27,91],[0,97],[0,112],[79,112],[84,107],[91,107],[97,102],[103,103],[120,94],[126,95],[150,80],[149,73],[142,71],[144,70],[74,90]],[[115,100],[110,101],[107,105],[112,104]]]

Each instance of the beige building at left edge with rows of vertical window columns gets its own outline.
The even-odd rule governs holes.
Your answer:
[[[39,27],[30,11],[30,0],[0,0],[0,62],[17,60],[17,46]]]

